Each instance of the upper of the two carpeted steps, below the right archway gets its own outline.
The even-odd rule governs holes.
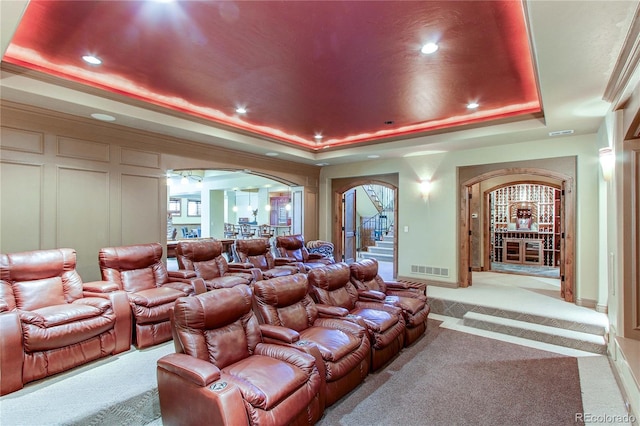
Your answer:
[[[554,328],[562,328],[566,330],[578,331],[581,333],[594,334],[597,336],[606,336],[608,330],[601,323],[590,323],[584,320],[570,320],[564,318],[555,318],[549,315],[539,315],[531,312],[508,310],[503,308],[489,307],[464,303],[457,300],[448,300],[443,298],[429,298],[431,312],[434,314],[445,315],[454,318],[463,318],[468,312],[476,312],[495,317],[513,319],[534,324],[546,325]]]

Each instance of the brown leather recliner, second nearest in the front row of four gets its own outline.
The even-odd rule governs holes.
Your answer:
[[[327,406],[365,379],[371,350],[366,328],[344,319],[321,318],[305,274],[259,281],[254,284],[254,299],[265,341],[291,345],[308,341],[318,347]]]

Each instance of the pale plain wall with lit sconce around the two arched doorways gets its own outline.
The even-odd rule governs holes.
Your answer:
[[[411,265],[449,268],[445,283],[457,283],[458,168],[478,164],[528,161],[548,157],[577,157],[576,297],[598,298],[598,147],[596,135],[549,138],[529,143],[425,156],[328,166],[320,174],[320,238],[331,236],[329,213],[332,179],[386,173],[399,175],[400,222],[398,275],[411,274]],[[419,182],[430,179],[431,192],[421,197]],[[408,227],[408,232],[404,232]]]

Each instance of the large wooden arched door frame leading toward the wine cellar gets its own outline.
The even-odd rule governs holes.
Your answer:
[[[561,293],[567,302],[575,303],[575,188],[572,177],[563,173],[546,170],[542,168],[515,167],[493,170],[474,176],[459,186],[460,201],[460,217],[459,223],[459,247],[458,253],[458,285],[460,287],[468,287],[472,284],[471,280],[471,211],[469,208],[469,194],[471,187],[477,183],[500,176],[509,175],[533,175],[544,176],[555,179],[559,182],[561,191],[563,191],[563,206],[561,217],[561,228],[563,229],[564,238],[561,242],[561,261],[563,263],[561,269],[564,275],[561,277]]]

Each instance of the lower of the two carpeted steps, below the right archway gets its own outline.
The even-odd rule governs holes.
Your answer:
[[[597,354],[607,353],[607,345],[604,337],[595,334],[486,315],[478,312],[465,313],[463,321],[464,325],[468,327],[579,349],[586,352]]]

